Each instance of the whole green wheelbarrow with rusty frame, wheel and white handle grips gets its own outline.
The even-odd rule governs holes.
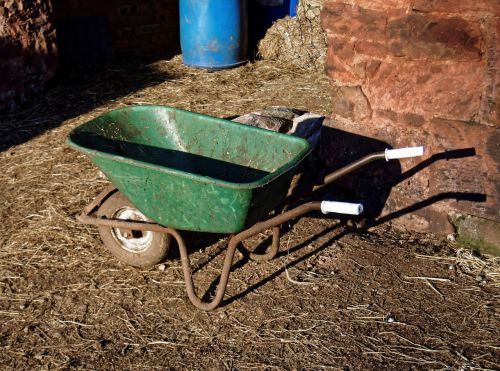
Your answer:
[[[250,254],[254,260],[270,260],[278,252],[281,224],[312,211],[352,215],[363,211],[361,204],[329,200],[290,208],[292,200],[303,195],[292,180],[311,152],[309,143],[211,116],[167,106],[128,107],[77,127],[68,143],[86,154],[112,183],[77,216],[78,221],[96,225],[110,252],[136,267],[162,262],[173,237],[188,297],[202,310],[221,303],[236,248],[244,240],[272,229],[268,251]],[[423,147],[373,153],[329,174],[308,191],[375,160],[422,154]],[[196,294],[180,231],[230,235],[210,302]]]

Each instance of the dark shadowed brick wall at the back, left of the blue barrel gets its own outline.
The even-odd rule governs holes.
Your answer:
[[[96,17],[101,17],[105,26],[99,26],[100,33],[110,39],[112,53],[117,57],[168,55],[179,51],[178,0],[52,0],[52,4],[58,24],[67,27],[73,19],[79,18],[80,24],[88,20],[87,26],[84,23],[80,26],[83,32],[85,27],[95,27]],[[96,40],[94,46],[98,42]],[[92,45],[87,47],[90,48]]]

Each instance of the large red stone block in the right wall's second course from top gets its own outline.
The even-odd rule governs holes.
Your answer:
[[[483,64],[381,62],[363,91],[372,109],[478,121]]]

